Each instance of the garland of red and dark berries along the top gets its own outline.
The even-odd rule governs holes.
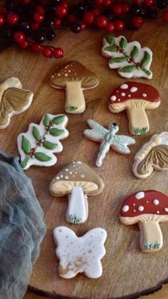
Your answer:
[[[63,49],[43,45],[55,39],[58,29],[68,27],[74,33],[90,26],[108,33],[124,27],[139,29],[163,9],[160,15],[168,21],[167,4],[167,0],[83,0],[69,6],[67,0],[6,0],[0,6],[0,40],[58,59]]]

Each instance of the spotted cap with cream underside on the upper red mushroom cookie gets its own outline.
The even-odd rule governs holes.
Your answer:
[[[146,108],[157,108],[161,101],[159,91],[153,86],[145,83],[137,82],[125,82],[121,86],[114,89],[110,96],[109,108],[114,109],[125,101],[145,101],[149,102],[149,107]],[[151,104],[150,104],[151,103]],[[119,105],[117,105],[119,104]],[[120,107],[120,106],[119,106]],[[123,106],[125,108],[125,106]],[[121,110],[120,110],[121,111]],[[117,112],[117,111],[116,111]]]

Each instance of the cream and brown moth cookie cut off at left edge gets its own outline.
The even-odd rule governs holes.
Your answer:
[[[19,78],[8,78],[0,84],[0,128],[9,126],[11,116],[26,111],[33,93],[22,88]]]

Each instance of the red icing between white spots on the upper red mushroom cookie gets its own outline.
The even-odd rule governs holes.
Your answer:
[[[120,86],[123,84],[127,84],[128,88],[127,89],[122,89]],[[132,100],[132,99],[143,99],[145,101],[150,101],[150,102],[158,102],[161,101],[159,91],[157,91],[156,88],[154,88],[151,85],[145,84],[145,83],[138,83],[138,82],[125,82],[122,83],[119,87],[115,88],[114,91],[112,92],[111,96],[116,96],[116,98],[120,98],[120,101],[112,101],[110,100],[110,103],[121,103],[127,100]],[[131,92],[130,89],[132,87],[136,87],[137,91]],[[121,93],[125,93],[125,96],[121,96]],[[143,93],[146,93],[147,96],[142,96]],[[128,96],[130,95],[130,97]],[[110,96],[110,97],[111,97]]]

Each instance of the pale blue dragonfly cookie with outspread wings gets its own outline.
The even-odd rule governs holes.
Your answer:
[[[88,119],[88,125],[91,129],[84,131],[85,137],[101,143],[98,158],[95,162],[95,165],[98,167],[102,166],[103,159],[106,153],[110,151],[110,147],[118,153],[127,154],[130,153],[130,149],[127,146],[135,144],[135,139],[129,136],[116,135],[119,131],[117,123],[111,123],[109,129],[107,129],[93,121],[93,119]]]

